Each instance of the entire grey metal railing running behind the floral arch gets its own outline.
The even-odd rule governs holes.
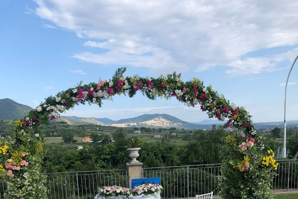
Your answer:
[[[272,180],[273,191],[298,190],[298,159],[277,160],[277,175]],[[193,198],[196,194],[219,194],[222,164],[201,164],[175,167],[143,168],[142,178],[160,177],[163,198]],[[127,170],[100,170],[48,173],[48,199],[93,199],[97,188],[110,185],[129,186]],[[0,199],[7,184],[0,180]]]

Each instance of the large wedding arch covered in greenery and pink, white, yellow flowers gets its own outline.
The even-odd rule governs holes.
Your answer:
[[[262,160],[259,160],[262,143],[255,133],[251,115],[243,107],[231,104],[224,98],[224,95],[219,95],[214,91],[212,86],[204,86],[203,82],[196,78],[183,82],[181,74],[177,75],[175,72],[169,75],[161,74],[158,78],[144,78],[138,75],[124,77],[125,71],[126,68],[119,68],[107,81],[99,80],[98,83],[86,85],[82,85],[81,81],[74,88],[46,98],[45,102],[30,111],[24,119],[16,121],[13,136],[5,143],[1,143],[0,169],[6,173],[8,182],[5,198],[46,197],[45,177],[39,173],[43,160],[43,135],[38,129],[39,125],[49,124],[49,120],[59,117],[59,112],[63,113],[76,104],[94,103],[101,107],[102,100],[111,100],[116,94],[133,97],[136,92],[142,92],[149,99],[176,98],[187,106],[194,107],[199,104],[201,110],[207,112],[210,118],[215,117],[222,121],[227,118],[226,127],[243,130],[240,136],[234,135],[226,138],[228,146],[224,150],[226,151],[224,155],[228,159],[225,158],[224,162],[228,164],[223,167],[223,172],[227,180],[223,179],[221,193],[224,198],[233,192],[230,181],[231,178],[235,178],[234,174],[243,178],[244,173],[252,175],[250,170],[253,166],[249,167],[249,164],[254,165],[255,168],[262,166],[260,163]],[[238,146],[241,142],[242,145]],[[235,194],[243,188],[236,186],[234,189],[233,198],[238,198]],[[260,189],[267,190],[268,186],[258,190]],[[245,194],[250,195],[250,193]]]

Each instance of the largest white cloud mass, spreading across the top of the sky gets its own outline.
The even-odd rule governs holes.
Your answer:
[[[201,72],[227,65],[229,76],[284,69],[291,60],[244,58],[246,53],[298,43],[298,2],[267,1],[51,1],[36,0],[35,13],[88,38],[84,46],[105,53],[74,58],[105,65],[147,67],[156,72]],[[287,23],[285,23],[287,21]],[[106,40],[104,42],[98,42]],[[281,61],[275,59],[279,57]]]

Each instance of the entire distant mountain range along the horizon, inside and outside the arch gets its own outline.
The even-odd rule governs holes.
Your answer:
[[[20,119],[23,118],[32,108],[19,104],[12,99],[0,99],[0,119]],[[213,124],[223,125],[225,122],[205,119],[201,122],[186,122],[168,114],[143,114],[134,118],[111,120],[109,118],[83,118],[77,116],[62,116],[53,121],[64,121],[71,125],[76,124],[97,124],[115,127],[177,127],[185,129],[210,129]],[[254,123],[257,128],[283,127],[283,121]],[[287,126],[298,126],[298,120],[287,121]]]

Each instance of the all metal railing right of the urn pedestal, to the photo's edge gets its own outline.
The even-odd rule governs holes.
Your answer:
[[[277,160],[277,176],[272,180],[273,191],[298,190],[298,159]],[[222,164],[201,164],[175,167],[143,168],[142,177],[160,177],[163,198],[191,198],[212,192],[219,195]]]

